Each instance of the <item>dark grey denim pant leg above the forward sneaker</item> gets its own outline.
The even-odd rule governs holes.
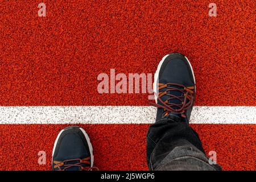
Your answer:
[[[221,170],[209,164],[199,135],[176,115],[148,129],[147,164],[150,170]]]

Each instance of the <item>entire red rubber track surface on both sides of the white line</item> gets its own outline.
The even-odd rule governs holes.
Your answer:
[[[196,105],[255,106],[255,1],[0,1],[0,105],[148,105],[98,94],[100,73],[154,73],[164,55],[191,61]],[[252,113],[255,114],[255,113]],[[0,169],[51,169],[67,125],[0,125]],[[100,169],[147,169],[148,125],[80,125]],[[256,169],[255,125],[193,125],[225,170]],[[38,151],[47,164],[39,166]]]

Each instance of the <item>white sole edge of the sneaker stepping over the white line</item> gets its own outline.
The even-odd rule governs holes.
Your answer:
[[[154,96],[155,96],[155,103],[157,104],[158,103],[158,82],[159,82],[159,72],[160,72],[160,69],[162,67],[162,64],[164,62],[164,60],[166,59],[166,57],[168,57],[170,54],[168,55],[165,55],[162,60],[160,61],[160,63],[158,64],[158,68],[156,69],[156,72],[155,72],[155,75],[154,75],[154,84],[153,84],[153,90],[154,90]],[[194,75],[194,71],[193,71],[193,68],[192,68],[192,65],[191,63],[189,62],[188,58],[186,56],[184,56],[185,59],[188,61],[188,64],[189,64],[189,67],[191,68],[191,71],[192,71],[192,75],[193,75],[193,79],[194,79],[194,82],[195,82],[195,92],[196,92],[196,78],[195,78],[195,75]]]

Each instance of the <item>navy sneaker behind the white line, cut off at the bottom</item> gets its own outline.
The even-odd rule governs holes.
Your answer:
[[[52,170],[88,171],[93,168],[93,148],[85,131],[78,126],[61,130],[53,147]]]

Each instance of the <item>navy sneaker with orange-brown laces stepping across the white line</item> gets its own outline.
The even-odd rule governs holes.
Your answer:
[[[189,122],[195,101],[196,81],[187,57],[171,53],[160,61],[154,77],[156,121],[179,115]]]

